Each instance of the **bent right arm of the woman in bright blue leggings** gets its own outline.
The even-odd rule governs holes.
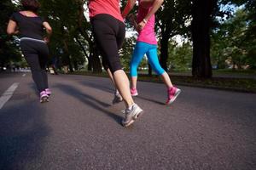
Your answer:
[[[164,0],[145,0],[148,1],[148,3],[151,1],[153,3],[151,10],[149,11],[149,13],[145,16],[145,18],[143,19],[142,22],[140,22],[138,24],[138,28],[140,30],[143,30],[144,26],[147,24],[148,19],[154,14],[156,13],[156,11],[160,8],[160,6],[162,5],[162,3],[164,3]]]

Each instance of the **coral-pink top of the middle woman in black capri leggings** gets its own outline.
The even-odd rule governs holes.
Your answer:
[[[119,8],[119,0],[90,0],[90,18],[96,14],[110,14],[117,20],[124,22]]]

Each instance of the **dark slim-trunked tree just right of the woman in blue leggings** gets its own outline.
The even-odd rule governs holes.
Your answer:
[[[156,30],[160,38],[160,65],[166,71],[170,38],[176,35],[189,36],[190,8],[190,0],[164,1],[156,14]]]

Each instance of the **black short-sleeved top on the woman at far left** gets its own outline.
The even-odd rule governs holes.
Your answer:
[[[17,23],[20,31],[19,37],[30,37],[38,40],[43,40],[44,36],[44,18],[28,17],[20,12],[16,12],[11,15],[10,20],[13,20]]]

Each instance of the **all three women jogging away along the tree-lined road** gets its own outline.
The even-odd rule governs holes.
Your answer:
[[[137,17],[129,14],[138,3]],[[160,66],[157,56],[157,40],[154,33],[155,12],[160,8],[163,0],[127,0],[125,9],[121,13],[119,0],[90,0],[89,12],[92,32],[96,45],[102,55],[102,65],[113,82],[115,88],[113,104],[125,102],[125,118],[123,126],[130,126],[143,110],[134,103],[132,96],[137,96],[137,67],[146,54],[152,69],[160,75],[167,88],[166,105],[172,104],[181,92],[174,87],[170,77]],[[20,48],[26,62],[32,70],[32,78],[36,83],[40,102],[49,101],[51,91],[45,71],[49,49],[47,42],[52,33],[49,23],[38,16],[40,4],[37,0],[21,0],[23,10],[16,12],[9,18],[7,32],[20,37]],[[124,20],[129,20],[138,32],[130,65],[131,88],[128,77],[123,71],[119,59],[119,48],[125,38]],[[47,36],[44,37],[44,31]]]

